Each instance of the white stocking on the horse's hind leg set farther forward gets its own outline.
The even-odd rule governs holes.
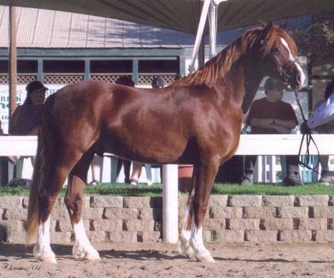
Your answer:
[[[76,234],[76,245],[73,247],[73,256],[80,260],[99,260],[100,256],[97,250],[92,247],[83,227],[83,220],[74,224],[74,233]]]

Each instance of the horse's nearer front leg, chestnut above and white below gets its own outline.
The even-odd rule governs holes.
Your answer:
[[[205,163],[199,165],[192,209],[194,211],[194,224],[190,236],[190,246],[194,250],[194,257],[198,261],[214,263],[210,252],[203,244],[203,220],[208,208],[213,181],[218,170],[218,163]]]

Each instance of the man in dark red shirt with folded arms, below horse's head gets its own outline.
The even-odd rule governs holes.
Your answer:
[[[264,85],[265,95],[251,104],[247,124],[252,134],[287,134],[297,124],[297,116],[290,104],[282,101],[285,85],[283,82],[269,78]],[[245,156],[244,177],[241,184],[253,184],[253,170],[257,156]],[[285,186],[303,184],[299,175],[299,156],[286,156],[287,177],[283,179]]]

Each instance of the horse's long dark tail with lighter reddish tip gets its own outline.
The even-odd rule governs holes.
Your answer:
[[[43,114],[43,113],[42,113]],[[42,116],[43,117],[43,116]],[[28,216],[26,219],[26,244],[34,244],[38,236],[38,226],[40,224],[40,201],[39,195],[42,190],[45,164],[48,159],[47,141],[44,135],[42,122],[38,131],[37,154],[33,167],[33,180],[29,192]]]

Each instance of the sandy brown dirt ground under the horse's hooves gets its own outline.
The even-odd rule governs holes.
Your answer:
[[[333,244],[210,243],[216,263],[181,256],[166,243],[94,243],[99,261],[75,261],[72,245],[51,245],[58,264],[42,263],[32,247],[0,245],[0,277],[331,277]]]

